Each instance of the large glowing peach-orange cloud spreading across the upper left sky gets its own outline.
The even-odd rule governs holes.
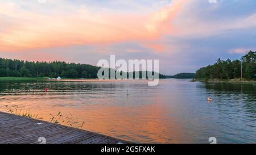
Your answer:
[[[82,7],[71,14],[39,14],[15,3],[3,3],[0,51],[155,39],[167,32],[168,22],[175,18],[184,2],[174,0],[170,6],[150,15],[97,13]]]

